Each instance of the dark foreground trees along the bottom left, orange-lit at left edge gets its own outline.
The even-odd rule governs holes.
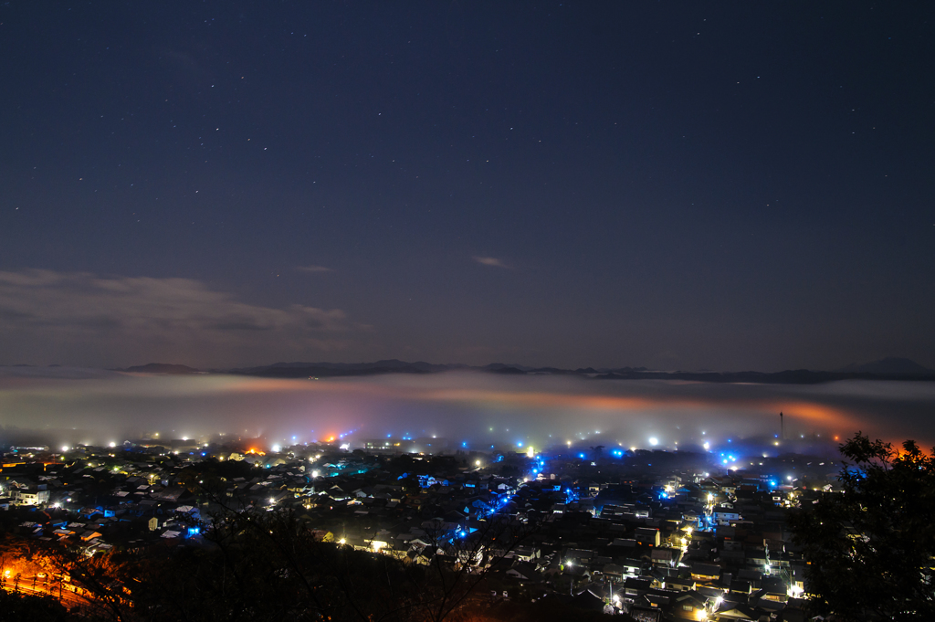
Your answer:
[[[487,562],[529,532],[510,517],[484,523],[471,534],[426,525],[430,545],[422,555],[393,557],[321,542],[291,509],[225,509],[202,526],[198,545],[166,542],[88,557],[54,542],[34,551],[39,543],[10,537],[0,555],[21,565],[40,559],[50,575],[67,575],[75,598],[88,601],[85,619],[441,622],[476,615]],[[64,615],[56,612],[49,615]],[[47,619],[42,615],[34,618]]]

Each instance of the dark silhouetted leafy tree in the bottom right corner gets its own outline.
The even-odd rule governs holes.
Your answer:
[[[792,518],[814,614],[935,619],[935,456],[859,432],[841,445],[843,494]]]

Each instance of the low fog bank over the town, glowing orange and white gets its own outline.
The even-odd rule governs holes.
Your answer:
[[[770,443],[780,434],[779,412],[786,438],[803,442],[843,440],[862,430],[887,441],[935,443],[935,383],[595,381],[480,372],[313,381],[0,369],[5,443],[224,433],[270,443],[334,437],[352,446],[388,436],[437,436],[452,450],[569,441],[659,449],[700,449],[707,442],[713,450],[744,440]]]

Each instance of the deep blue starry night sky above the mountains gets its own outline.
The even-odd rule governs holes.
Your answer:
[[[0,5],[0,364],[935,368],[935,5]]]

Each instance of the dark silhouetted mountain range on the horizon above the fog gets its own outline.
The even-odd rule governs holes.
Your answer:
[[[761,371],[660,371],[647,368],[532,368],[518,364],[491,363],[483,367],[463,364],[438,365],[395,358],[373,363],[273,363],[253,368],[210,369],[202,371],[185,365],[150,363],[117,371],[162,374],[229,373],[264,378],[334,378],[339,376],[374,376],[388,373],[430,374],[457,369],[475,370],[513,376],[581,376],[595,380],[684,380],[701,383],[773,383],[814,384],[836,380],[928,380],[935,381],[935,370],[927,369],[908,358],[884,358],[863,365],[849,365],[834,371],[787,369]]]

